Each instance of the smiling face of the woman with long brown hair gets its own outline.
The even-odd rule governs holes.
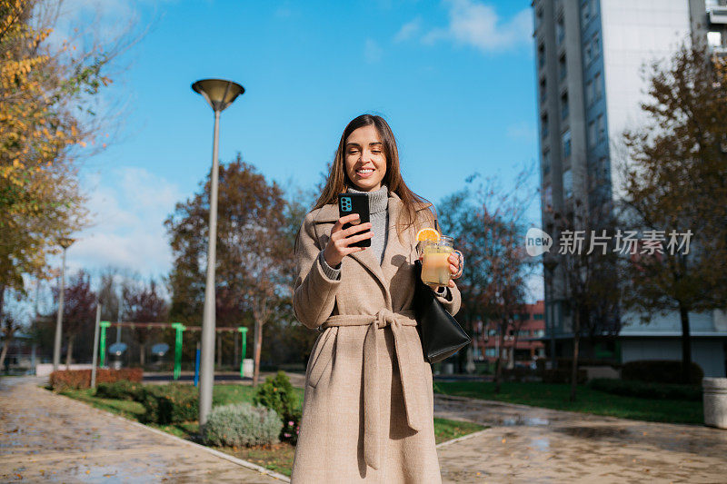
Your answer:
[[[386,174],[386,155],[375,126],[362,126],[349,134],[344,163],[348,179],[357,190],[374,192],[381,188]]]

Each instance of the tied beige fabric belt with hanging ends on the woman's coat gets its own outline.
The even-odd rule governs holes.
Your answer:
[[[375,315],[337,314],[329,317],[321,326],[324,330],[332,326],[364,326],[368,325],[364,337],[364,459],[373,469],[381,465],[382,425],[379,408],[378,378],[378,341],[380,331],[386,326],[393,333],[396,361],[402,380],[403,406],[406,410],[406,422],[413,430],[423,430],[427,422],[425,410],[428,401],[425,399],[422,343],[413,333],[402,331],[402,326],[416,326],[413,311],[393,312],[386,309]],[[416,346],[414,346],[416,345]],[[421,355],[421,361],[414,355]],[[414,361],[415,360],[415,361]],[[418,367],[416,364],[419,363]]]

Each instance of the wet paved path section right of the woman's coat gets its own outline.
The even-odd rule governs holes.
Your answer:
[[[727,482],[727,430],[434,396],[492,426],[438,449],[443,482]]]

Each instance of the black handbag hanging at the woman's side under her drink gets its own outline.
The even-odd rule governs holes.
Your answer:
[[[424,359],[430,363],[443,361],[470,344],[470,338],[422,281],[422,262],[414,262],[414,317],[422,340]]]

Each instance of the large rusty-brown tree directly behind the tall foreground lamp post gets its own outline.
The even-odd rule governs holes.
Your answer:
[[[172,316],[201,321],[208,234],[209,177],[202,190],[177,203],[164,224],[174,252],[170,275]],[[288,297],[291,263],[285,200],[276,183],[267,183],[240,154],[222,164],[217,214],[216,313],[220,325],[254,322],[254,385],[257,384],[264,324]]]

